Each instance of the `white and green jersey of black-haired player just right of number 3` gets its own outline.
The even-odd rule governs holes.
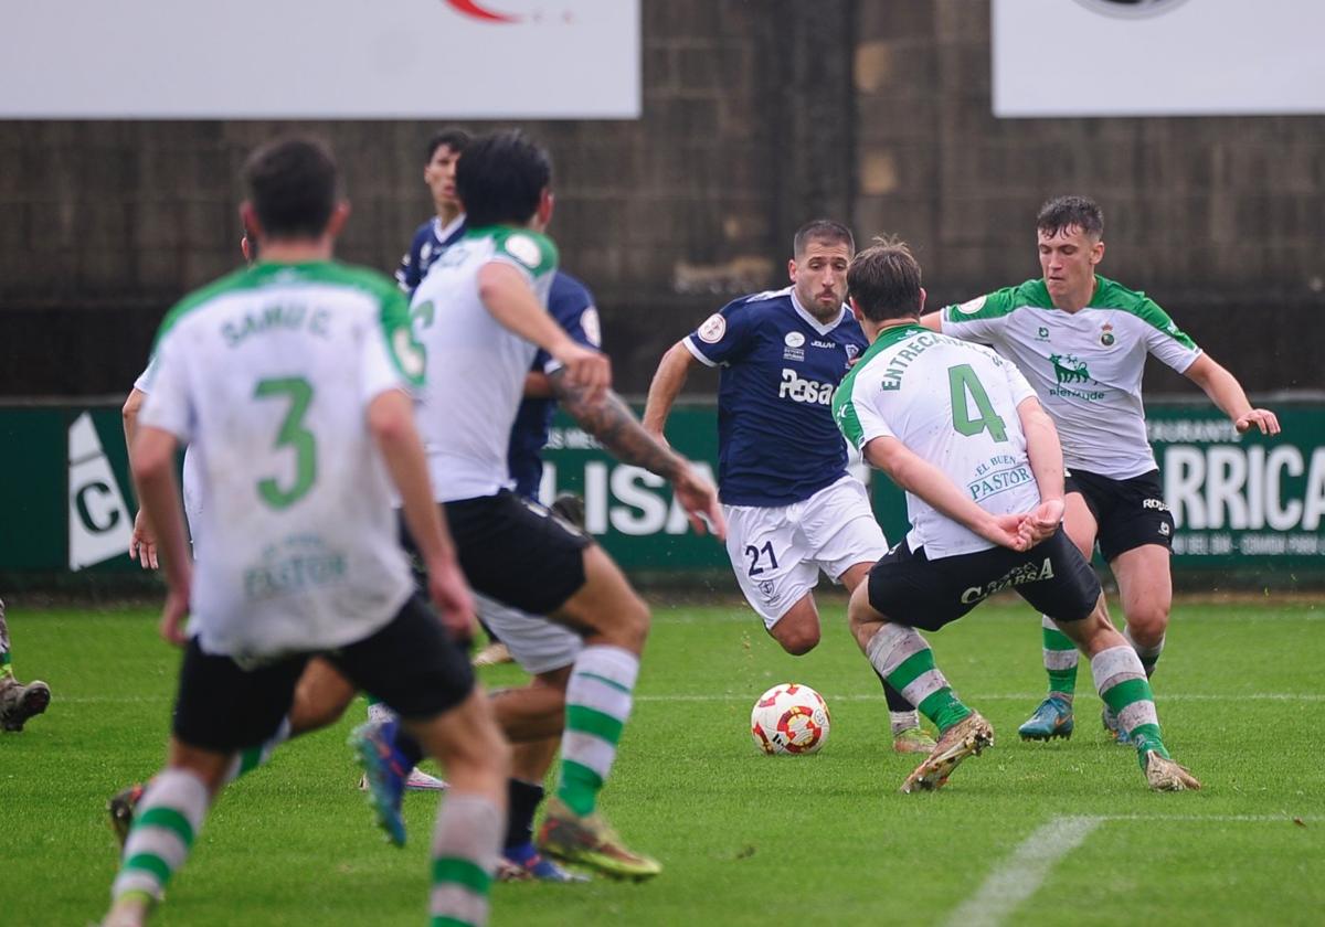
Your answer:
[[[538,348],[505,328],[480,299],[478,271],[492,262],[519,270],[546,310],[556,246],[538,232],[505,225],[465,232],[433,262],[411,303],[428,358],[419,429],[437,502],[493,495],[513,485],[510,428]]]

